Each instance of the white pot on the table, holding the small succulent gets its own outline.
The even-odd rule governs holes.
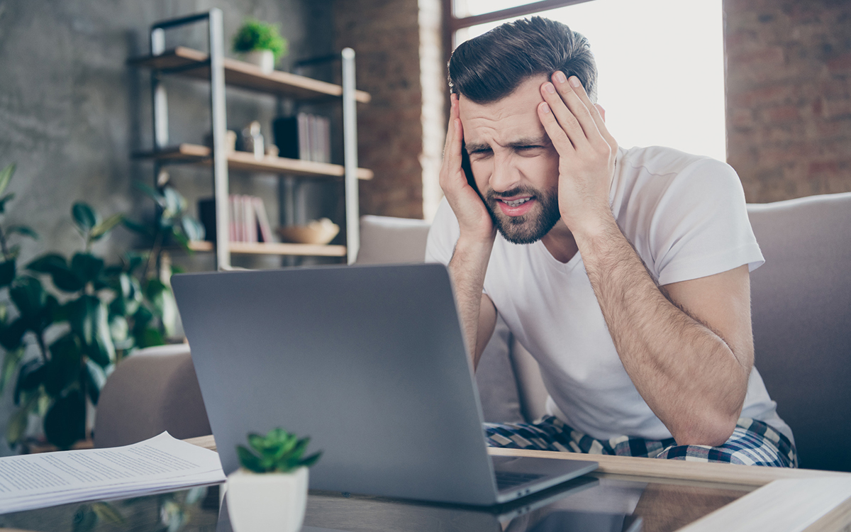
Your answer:
[[[227,513],[233,532],[298,532],[305,519],[306,467],[288,473],[238,469],[227,476]]]

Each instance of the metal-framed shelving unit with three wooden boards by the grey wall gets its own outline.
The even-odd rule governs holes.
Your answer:
[[[165,49],[168,28],[197,22],[208,23],[209,53],[186,47]],[[355,89],[355,53],[344,49],[342,85],[326,83],[289,72],[265,73],[260,67],[224,56],[220,9],[174,20],[164,20],[151,26],[151,54],[128,61],[131,66],[151,69],[151,99],[153,104],[153,149],[134,153],[134,158],[154,163],[154,176],[168,164],[204,165],[212,168],[216,211],[216,241],[193,242],[191,249],[215,252],[216,268],[230,269],[231,254],[248,255],[311,255],[346,257],[351,264],[357,257],[360,235],[358,225],[357,181],[372,179],[368,169],[357,168],[357,103],[368,103],[370,95]],[[163,77],[175,75],[207,81],[210,85],[210,113],[213,123],[213,146],[196,144],[169,145],[168,98]],[[306,102],[339,100],[343,105],[344,164],[316,163],[284,157],[255,158],[253,153],[229,151],[226,137],[226,85],[250,89],[278,97]],[[315,245],[299,243],[244,243],[229,241],[228,170],[268,172],[300,179],[340,179],[346,191],[346,245]]]

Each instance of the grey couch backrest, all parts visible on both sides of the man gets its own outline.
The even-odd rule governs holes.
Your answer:
[[[801,466],[851,471],[851,193],[749,204],[748,214],[766,259],[751,273],[756,366]],[[359,263],[420,261],[428,224],[364,216],[361,232]],[[512,343],[498,327],[477,369],[489,421],[531,417],[524,401],[545,397],[522,389]]]

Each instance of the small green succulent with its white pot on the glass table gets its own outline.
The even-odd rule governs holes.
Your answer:
[[[227,511],[234,532],[301,528],[307,506],[307,468],[322,452],[302,458],[310,438],[282,428],[248,434],[252,450],[237,445],[240,469],[227,477]]]

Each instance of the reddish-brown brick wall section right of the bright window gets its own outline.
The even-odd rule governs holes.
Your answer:
[[[728,163],[749,202],[851,191],[851,1],[724,0]]]

